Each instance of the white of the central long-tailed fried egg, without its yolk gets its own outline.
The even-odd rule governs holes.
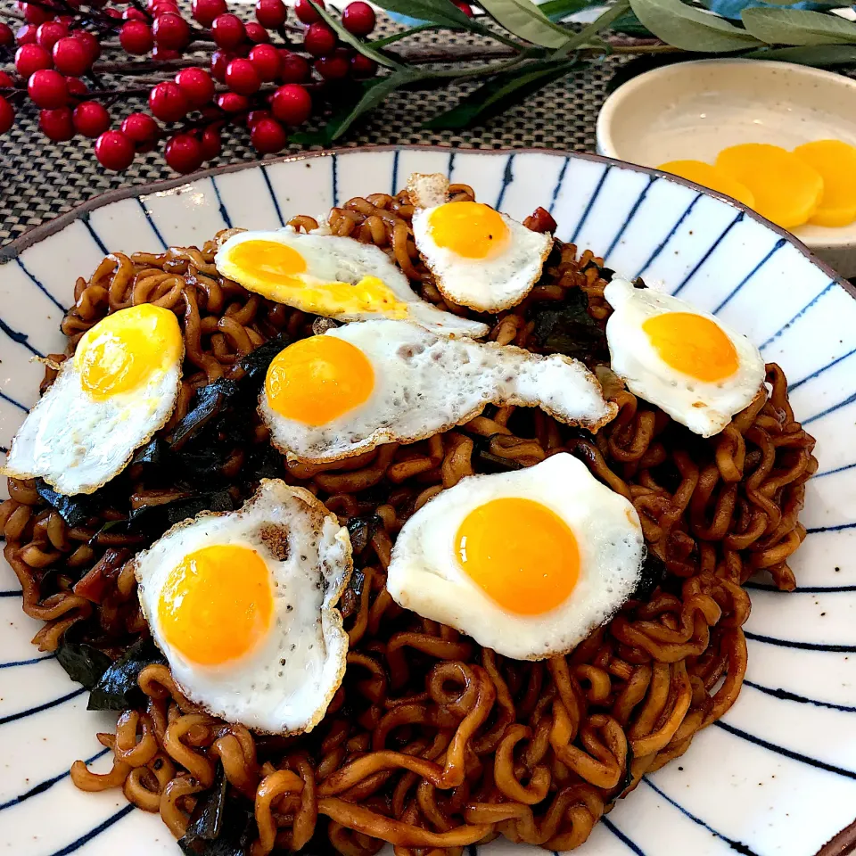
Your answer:
[[[297,420],[280,416],[268,405],[266,390],[264,386],[262,387],[259,394],[259,415],[271,432],[271,443],[289,460],[300,461],[304,464],[324,464],[347,457],[355,457],[375,449],[383,443],[414,443],[418,440],[426,440],[433,434],[448,431],[456,425],[469,422],[474,416],[478,416],[488,404],[496,404],[500,407],[506,405],[540,407],[545,413],[560,422],[581,424],[593,432],[597,432],[603,425],[611,422],[618,412],[618,408],[612,401],[605,400],[597,377],[579,361],[562,354],[545,356],[533,354],[531,351],[517,348],[514,345],[499,345],[497,342],[473,342],[467,339],[448,340],[408,321],[364,321],[359,324],[343,325],[328,330],[324,334],[351,342],[363,350],[374,367],[375,385],[371,396],[362,405],[332,422],[317,426],[302,424]],[[444,342],[449,342],[449,344],[441,344]],[[398,356],[398,351],[402,348],[412,347],[422,348],[422,353],[432,347],[454,350],[459,352],[462,358],[465,357],[462,359],[462,365],[472,365],[473,356],[480,352],[490,355],[510,354],[513,356],[515,364],[506,367],[509,371],[513,370],[514,374],[508,374],[505,380],[507,383],[515,384],[517,388],[514,392],[509,391],[508,394],[502,394],[502,390],[495,388],[491,394],[490,390],[483,388],[485,373],[481,371],[481,366],[475,366],[472,376],[477,391],[481,392],[481,397],[473,401],[472,407],[462,409],[457,414],[449,414],[449,418],[432,424],[413,424],[411,427],[405,428],[401,428],[400,421],[397,424],[375,424],[370,426],[368,433],[358,440],[353,442],[346,440],[345,432],[353,424],[352,415],[368,414],[378,402],[385,398],[391,399],[396,395],[396,389],[393,385],[395,374],[385,372],[383,368],[400,364],[401,358]],[[426,361],[427,359],[425,358]],[[531,370],[526,371],[527,367],[531,367]],[[501,366],[497,366],[497,373],[504,374],[500,368]],[[523,370],[521,370],[522,368]],[[416,372],[420,374],[416,374],[416,376],[424,374],[426,385],[429,390],[432,390],[436,388],[439,378],[432,377],[431,374],[436,374],[437,371],[437,365],[432,361],[424,370],[417,368]],[[569,374],[569,371],[572,374]],[[449,372],[449,374],[452,383],[459,382],[459,373]],[[536,380],[536,374],[538,374],[538,380]],[[597,408],[594,419],[586,421],[584,417],[569,417],[568,411],[560,409],[559,403],[555,399],[539,400],[539,383],[543,383],[547,389],[552,391],[564,391],[572,376],[575,381],[579,381],[575,391],[584,388],[589,399],[587,406]],[[436,406],[440,403],[442,402],[429,401],[416,413],[420,415],[424,413],[430,418],[432,414],[437,412]],[[402,405],[400,416],[413,419],[415,408],[412,405]],[[326,437],[329,437],[329,440],[325,440]],[[319,454],[318,449],[320,448],[325,448],[326,451]]]

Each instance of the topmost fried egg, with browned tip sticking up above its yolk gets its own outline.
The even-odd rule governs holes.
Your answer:
[[[415,173],[407,183],[416,249],[443,297],[479,312],[516,306],[553,246],[483,202],[449,202],[449,179]]]

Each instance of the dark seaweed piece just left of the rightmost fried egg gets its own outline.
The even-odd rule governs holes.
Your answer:
[[[608,357],[606,334],[588,314],[588,298],[580,289],[568,289],[562,303],[537,304],[530,317],[535,322],[533,338],[546,353],[587,362]]]

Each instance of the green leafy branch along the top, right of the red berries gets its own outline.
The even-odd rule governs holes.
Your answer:
[[[789,8],[796,0],[745,9],[739,20],[714,14],[710,0],[609,0],[597,18],[580,28],[569,16],[604,6],[603,0],[479,0],[470,17],[451,0],[375,0],[387,12],[416,24],[391,36],[364,41],[352,36],[333,12],[315,4],[336,34],[382,67],[328,117],[317,132],[292,136],[303,144],[330,145],[366,113],[399,90],[436,88],[474,79],[479,85],[457,104],[424,121],[424,128],[470,128],[487,121],[557,80],[583,74],[609,54],[699,53],[797,62],[819,67],[856,66],[856,23],[832,12]],[[465,33],[476,44],[426,47],[428,31]]]

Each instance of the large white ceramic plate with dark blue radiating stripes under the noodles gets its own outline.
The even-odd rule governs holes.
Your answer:
[[[105,251],[161,251],[223,226],[281,226],[298,212],[395,191],[414,170],[448,173],[515,218],[544,206],[558,237],[712,309],[784,367],[820,461],[802,514],[810,534],[792,563],[800,588],[782,594],[754,582],[737,704],[686,755],[646,776],[579,852],[812,856],[856,814],[856,301],[802,245],[734,203],[591,156],[436,148],[268,161],[107,194],[0,251],[0,444],[37,399],[43,370],[32,358],[64,347],[58,325],[75,277]],[[119,791],[71,785],[70,763],[106,753],[95,731],[112,723],[86,712],[84,691],[29,645],[39,625],[21,613],[18,588],[4,565],[0,852],[177,854],[161,820]],[[509,848],[522,850],[480,851]]]

